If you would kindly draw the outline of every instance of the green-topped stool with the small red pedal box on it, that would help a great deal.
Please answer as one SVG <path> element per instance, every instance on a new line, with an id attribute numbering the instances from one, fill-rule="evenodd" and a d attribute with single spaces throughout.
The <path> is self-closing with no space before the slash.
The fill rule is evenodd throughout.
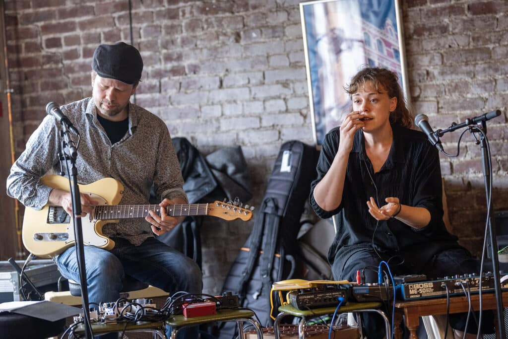
<path id="1" fill-rule="evenodd" d="M 254 326 L 258 333 L 258 338 L 263 338 L 263 331 L 260 324 L 253 320 L 254 312 L 250 310 L 219 309 L 216 314 L 209 316 L 185 318 L 183 315 L 174 316 L 166 321 L 166 324 L 172 327 L 171 339 L 176 338 L 176 333 L 187 326 L 196 326 L 212 321 L 234 320 L 238 324 L 239 338 L 243 338 L 243 322 L 249 322 Z"/>

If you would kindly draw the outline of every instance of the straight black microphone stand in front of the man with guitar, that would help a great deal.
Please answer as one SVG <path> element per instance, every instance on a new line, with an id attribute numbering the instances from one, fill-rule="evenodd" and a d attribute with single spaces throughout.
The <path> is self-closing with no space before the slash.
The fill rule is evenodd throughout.
<path id="1" fill-rule="evenodd" d="M 90 326 L 90 313 L 88 303 L 88 288 L 86 286 L 86 267 L 85 267 L 85 249 L 83 246 L 83 228 L 81 224 L 81 198 L 78 186 L 78 170 L 76 168 L 76 158 L 78 151 L 74 145 L 74 141 L 69 136 L 70 132 L 67 122 L 61 120 L 62 126 L 61 136 L 63 136 L 62 147 L 60 149 L 60 161 L 71 161 L 71 170 L 68 171 L 70 179 L 72 210 L 74 215 L 74 247 L 76 249 L 76 257 L 78 260 L 79 269 L 79 282 L 81 286 L 81 300 L 83 306 L 83 319 L 85 327 L 85 336 L 87 339 L 92 339 L 91 326 Z M 66 153 L 65 150 L 68 152 Z M 62 168 L 60 164 L 60 168 Z M 68 168 L 68 167 L 67 167 Z"/>

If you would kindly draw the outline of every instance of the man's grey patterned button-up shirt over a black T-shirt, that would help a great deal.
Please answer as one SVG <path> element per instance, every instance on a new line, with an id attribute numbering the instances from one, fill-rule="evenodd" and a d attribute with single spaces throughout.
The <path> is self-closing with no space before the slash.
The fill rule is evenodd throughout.
<path id="1" fill-rule="evenodd" d="M 178 158 L 165 123 L 147 110 L 129 104 L 129 129 L 117 143 L 111 144 L 97 119 L 92 98 L 62 106 L 80 133 L 76 167 L 78 181 L 88 184 L 113 177 L 123 184 L 120 204 L 148 204 L 150 189 L 160 200 L 175 197 L 187 201 Z M 51 188 L 40 178 L 59 173 L 58 151 L 61 126 L 46 116 L 30 136 L 26 149 L 11 168 L 7 193 L 25 206 L 41 209 L 47 204 Z M 77 142 L 77 138 L 73 136 Z M 63 166 L 67 172 L 67 168 Z M 106 236 L 128 239 L 135 245 L 153 236 L 144 219 L 122 219 L 103 227 Z"/>

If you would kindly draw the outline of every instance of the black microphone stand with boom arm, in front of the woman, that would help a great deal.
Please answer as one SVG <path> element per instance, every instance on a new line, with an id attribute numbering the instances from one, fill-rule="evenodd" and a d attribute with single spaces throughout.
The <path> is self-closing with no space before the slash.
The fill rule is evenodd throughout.
<path id="1" fill-rule="evenodd" d="M 482 149 L 482 169 L 483 169 L 483 176 L 485 180 L 485 191 L 487 196 L 487 215 L 489 215 L 489 219 L 487 220 L 487 228 L 490 236 L 490 253 L 492 257 L 492 274 L 494 276 L 494 291 L 496 293 L 496 307 L 497 307 L 497 325 L 499 327 L 499 337 L 504 338 L 505 335 L 505 328 L 504 328 L 504 307 L 503 307 L 503 298 L 502 298 L 502 291 L 501 291 L 501 281 L 499 277 L 499 258 L 497 256 L 497 239 L 496 239 L 496 226 L 495 226 L 495 219 L 492 216 L 492 198 L 489 197 L 489 182 L 491 180 L 490 178 L 490 158 L 488 157 L 488 150 L 487 150 L 487 140 L 485 139 L 485 135 L 487 134 L 487 120 L 492 119 L 496 116 L 499 116 L 501 114 L 500 110 L 492 111 L 485 113 L 481 116 L 474 117 L 472 119 L 466 119 L 465 122 L 462 122 L 462 124 L 452 124 L 448 129 L 446 130 L 437 130 L 433 132 L 436 137 L 443 136 L 444 133 L 452 132 L 457 129 L 467 127 L 470 125 L 477 125 L 479 129 L 483 131 L 483 134 L 480 136 L 480 141 L 477 142 L 477 144 L 480 144 L 480 147 Z M 471 133 L 473 133 L 473 129 L 470 128 Z M 480 279 L 482 279 L 483 272 L 480 272 Z"/>

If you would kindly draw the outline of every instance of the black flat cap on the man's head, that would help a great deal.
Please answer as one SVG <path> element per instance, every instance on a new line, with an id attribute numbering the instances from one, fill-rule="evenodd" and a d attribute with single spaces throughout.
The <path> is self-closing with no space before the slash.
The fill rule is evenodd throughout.
<path id="1" fill-rule="evenodd" d="M 93 52 L 92 70 L 103 78 L 132 85 L 141 79 L 143 59 L 136 47 L 124 42 L 99 45 Z"/>

